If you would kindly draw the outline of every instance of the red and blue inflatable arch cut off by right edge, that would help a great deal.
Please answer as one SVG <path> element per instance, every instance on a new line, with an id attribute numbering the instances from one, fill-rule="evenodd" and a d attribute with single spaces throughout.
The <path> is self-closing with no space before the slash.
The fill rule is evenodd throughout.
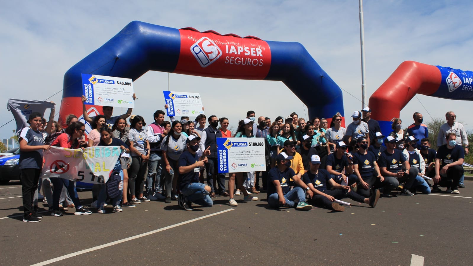
<path id="1" fill-rule="evenodd" d="M 384 135 L 393 131 L 391 121 L 416 94 L 473 100 L 473 72 L 414 61 L 401 63 L 369 98 L 372 118 L 378 120 Z M 445 106 L 445 112 L 447 109 L 452 108 Z"/>

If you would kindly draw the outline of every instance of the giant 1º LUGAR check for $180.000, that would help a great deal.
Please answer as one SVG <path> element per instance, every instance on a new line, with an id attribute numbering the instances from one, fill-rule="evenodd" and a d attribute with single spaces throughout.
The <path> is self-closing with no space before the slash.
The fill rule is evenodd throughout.
<path id="1" fill-rule="evenodd" d="M 217 138 L 219 173 L 266 171 L 264 138 Z"/>

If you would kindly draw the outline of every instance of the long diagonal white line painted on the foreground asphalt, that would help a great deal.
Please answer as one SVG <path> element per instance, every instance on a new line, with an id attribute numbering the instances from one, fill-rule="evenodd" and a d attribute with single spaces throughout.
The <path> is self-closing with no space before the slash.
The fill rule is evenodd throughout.
<path id="1" fill-rule="evenodd" d="M 142 234 L 139 234 L 139 235 L 136 235 L 136 236 L 116 240 L 116 241 L 106 243 L 106 244 L 103 244 L 103 245 L 100 245 L 100 246 L 96 246 L 96 247 L 93 247 L 93 248 L 86 248 L 84 250 L 73 252 L 73 253 L 70 253 L 70 254 L 67 254 L 67 255 L 64 255 L 64 256 L 61 256 L 61 257 L 56 257 L 56 258 L 50 259 L 50 260 L 45 260 L 43 262 L 33 264 L 32 266 L 43 266 L 43 265 L 47 265 L 47 264 L 50 264 L 50 263 L 58 262 L 58 261 L 61 261 L 63 259 L 74 257 L 74 256 L 77 256 L 77 255 L 80 255 L 80 254 L 85 254 L 85 253 L 95 251 L 95 250 L 98 250 L 98 249 L 111 247 L 111 246 L 114 246 L 116 244 L 120 244 L 120 243 L 130 241 L 130 240 L 133 240 L 133 239 L 138 239 L 140 237 L 149 236 L 149 235 L 161 232 L 161 231 L 172 229 L 172 228 L 184 225 L 184 224 L 188 224 L 188 223 L 191 223 L 191 222 L 196 222 L 196 221 L 199 221 L 199 220 L 202 220 L 202 219 L 205 219 L 205 218 L 209 218 L 211 216 L 219 215 L 219 214 L 226 213 L 226 212 L 233 211 L 233 210 L 234 209 L 227 209 L 225 211 L 221 211 L 221 212 L 218 212 L 218 213 L 212 213 L 212 214 L 204 215 L 204 216 L 199 217 L 199 218 L 195 218 L 195 219 L 188 220 L 188 221 L 185 221 L 185 222 L 179 222 L 179 223 L 176 223 L 176 224 L 173 224 L 173 225 L 169 225 L 169 226 L 166 226 L 166 227 L 163 227 L 163 228 L 160 228 L 160 229 L 156 229 L 156 230 L 153 230 L 153 231 L 142 233 Z"/>

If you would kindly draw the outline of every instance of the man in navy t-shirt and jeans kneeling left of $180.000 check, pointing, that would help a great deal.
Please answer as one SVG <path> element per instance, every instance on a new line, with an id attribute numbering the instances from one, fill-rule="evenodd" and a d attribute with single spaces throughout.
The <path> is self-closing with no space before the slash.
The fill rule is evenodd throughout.
<path id="1" fill-rule="evenodd" d="M 212 120 L 212 116 L 209 117 Z M 211 155 L 210 147 L 203 151 L 202 155 L 198 155 L 199 142 L 201 138 L 190 135 L 186 142 L 186 150 L 179 156 L 177 162 L 179 169 L 179 189 L 181 193 L 178 195 L 179 207 L 186 211 L 192 211 L 192 203 L 211 207 L 213 205 L 209 194 L 210 186 L 199 182 L 200 169 L 207 163 L 208 156 Z"/>

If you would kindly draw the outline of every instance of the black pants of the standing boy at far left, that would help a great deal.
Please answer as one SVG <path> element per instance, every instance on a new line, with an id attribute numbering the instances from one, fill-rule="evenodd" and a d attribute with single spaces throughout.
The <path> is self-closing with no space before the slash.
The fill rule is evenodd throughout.
<path id="1" fill-rule="evenodd" d="M 41 169 L 20 169 L 21 192 L 23 195 L 23 212 L 25 213 L 25 215 L 33 213 L 33 198 L 35 197 L 35 191 L 38 188 L 40 174 Z"/>

